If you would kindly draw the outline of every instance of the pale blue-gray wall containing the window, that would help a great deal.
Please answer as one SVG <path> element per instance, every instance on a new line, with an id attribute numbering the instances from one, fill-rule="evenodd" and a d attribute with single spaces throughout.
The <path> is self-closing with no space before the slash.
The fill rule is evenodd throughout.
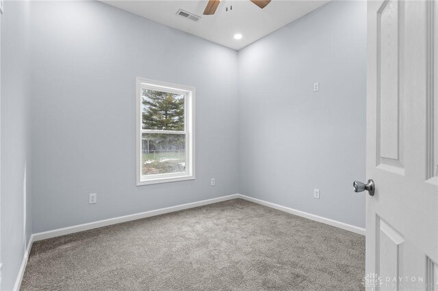
<path id="1" fill-rule="evenodd" d="M 238 192 L 236 51 L 96 1 L 31 11 L 34 232 Z M 196 180 L 136 186 L 136 77 L 196 87 Z"/>

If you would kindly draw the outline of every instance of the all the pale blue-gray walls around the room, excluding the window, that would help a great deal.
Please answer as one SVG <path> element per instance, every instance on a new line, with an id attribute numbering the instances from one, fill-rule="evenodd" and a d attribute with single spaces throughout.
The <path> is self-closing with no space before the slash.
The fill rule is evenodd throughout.
<path id="1" fill-rule="evenodd" d="M 6 1 L 3 290 L 31 232 L 227 194 L 363 227 L 365 12 L 334 1 L 237 54 L 96 1 Z M 196 180 L 136 186 L 136 77 L 196 87 Z"/>

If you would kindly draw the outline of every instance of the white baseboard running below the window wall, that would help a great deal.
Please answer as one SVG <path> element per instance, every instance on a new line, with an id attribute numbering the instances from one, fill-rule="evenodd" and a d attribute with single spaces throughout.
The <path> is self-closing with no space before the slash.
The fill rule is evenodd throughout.
<path id="1" fill-rule="evenodd" d="M 160 208 L 157 210 L 150 210 L 150 211 L 140 212 L 140 213 L 136 213 L 136 214 L 129 214 L 129 215 L 125 215 L 123 217 L 115 217 L 112 219 L 104 219 L 101 221 L 94 221 L 94 222 L 90 222 L 90 223 L 73 225 L 73 226 L 69 226 L 69 227 L 60 228 L 57 230 L 49 230 L 48 232 L 38 232 L 37 234 L 33 234 L 34 241 L 45 240 L 47 238 L 54 238 L 56 236 L 64 236 L 65 234 L 73 234 L 75 232 L 83 232 L 84 230 L 92 230 L 93 228 L 97 228 L 97 227 L 103 227 L 103 226 L 112 225 L 112 224 L 116 224 L 116 223 L 123 223 L 126 221 L 143 219 L 146 217 L 153 217 L 153 216 L 159 215 L 159 214 L 166 214 L 166 213 L 184 210 L 184 209 L 188 209 L 188 208 L 204 206 L 207 204 L 214 204 L 217 202 L 235 199 L 237 197 L 239 197 L 238 194 L 232 194 L 232 195 L 227 195 L 227 196 L 222 196 L 222 197 L 217 197 L 217 198 L 212 198 L 212 199 L 207 199 L 207 200 L 201 200 L 198 202 L 192 202 L 192 203 L 181 204 L 181 205 L 177 205 L 177 206 Z"/>

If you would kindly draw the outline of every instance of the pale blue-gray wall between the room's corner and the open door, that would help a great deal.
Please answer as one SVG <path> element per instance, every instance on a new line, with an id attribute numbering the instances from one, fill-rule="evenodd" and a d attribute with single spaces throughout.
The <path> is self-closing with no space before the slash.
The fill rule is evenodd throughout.
<path id="1" fill-rule="evenodd" d="M 332 1 L 239 51 L 240 193 L 365 227 L 352 193 L 365 180 L 365 53 L 365 1 Z"/>

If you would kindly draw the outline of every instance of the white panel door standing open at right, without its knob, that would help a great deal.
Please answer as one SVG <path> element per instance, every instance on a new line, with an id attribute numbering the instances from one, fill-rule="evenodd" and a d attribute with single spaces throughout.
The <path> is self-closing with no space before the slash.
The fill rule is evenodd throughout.
<path id="1" fill-rule="evenodd" d="M 438 290 L 436 1 L 368 1 L 368 290 Z"/>

